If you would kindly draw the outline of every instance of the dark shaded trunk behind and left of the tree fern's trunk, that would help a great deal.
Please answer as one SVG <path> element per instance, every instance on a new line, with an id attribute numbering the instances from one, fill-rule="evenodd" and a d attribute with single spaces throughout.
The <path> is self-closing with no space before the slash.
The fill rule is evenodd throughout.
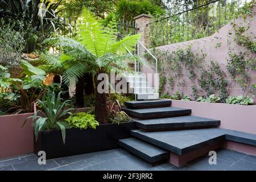
<path id="1" fill-rule="evenodd" d="M 84 107 L 84 77 L 80 77 L 76 83 L 76 106 Z"/>

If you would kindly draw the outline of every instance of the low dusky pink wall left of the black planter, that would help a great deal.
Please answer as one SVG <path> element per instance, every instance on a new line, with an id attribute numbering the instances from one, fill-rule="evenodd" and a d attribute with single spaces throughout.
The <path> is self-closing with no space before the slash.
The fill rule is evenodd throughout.
<path id="1" fill-rule="evenodd" d="M 34 151 L 34 130 L 31 121 L 21 128 L 32 113 L 0 116 L 0 159 Z"/>

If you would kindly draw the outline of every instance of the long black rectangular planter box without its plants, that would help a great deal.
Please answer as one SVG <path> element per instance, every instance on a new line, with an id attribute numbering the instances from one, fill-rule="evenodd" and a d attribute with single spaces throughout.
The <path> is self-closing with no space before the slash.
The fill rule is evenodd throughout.
<path id="1" fill-rule="evenodd" d="M 135 129 L 135 122 L 106 124 L 94 129 L 66 129 L 65 144 L 60 130 L 40 132 L 34 139 L 34 152 L 45 151 L 46 158 L 85 154 L 118 148 L 118 140 L 129 138 L 130 130 Z"/>

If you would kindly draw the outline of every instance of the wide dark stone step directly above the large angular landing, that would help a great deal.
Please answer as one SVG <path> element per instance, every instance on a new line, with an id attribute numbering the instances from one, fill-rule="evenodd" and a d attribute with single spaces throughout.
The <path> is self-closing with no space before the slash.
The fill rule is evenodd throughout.
<path id="1" fill-rule="evenodd" d="M 202 127 L 214 127 L 220 125 L 219 120 L 184 115 L 180 117 L 156 118 L 156 119 L 135 119 L 136 126 L 146 131 L 156 130 L 180 130 Z"/>

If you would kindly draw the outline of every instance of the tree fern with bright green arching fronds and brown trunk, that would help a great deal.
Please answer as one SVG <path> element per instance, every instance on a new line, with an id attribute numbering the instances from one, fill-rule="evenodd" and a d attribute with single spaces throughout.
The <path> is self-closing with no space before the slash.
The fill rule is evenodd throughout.
<path id="1" fill-rule="evenodd" d="M 58 48 L 60 55 L 43 55 L 45 64 L 62 67 L 63 81 L 70 84 L 71 80 L 92 73 L 96 78 L 96 88 L 100 81 L 97 81 L 99 73 L 110 71 L 122 73 L 129 69 L 125 60 L 136 59 L 142 61 L 138 56 L 127 54 L 127 50 L 133 51 L 140 35 L 126 36 L 122 40 L 117 39 L 116 24 L 110 23 L 103 27 L 96 18 L 84 10 L 83 22 L 79 27 L 79 34 L 75 39 L 49 38 L 46 43 Z M 108 123 L 107 94 L 96 92 L 96 119 L 100 123 Z"/>

